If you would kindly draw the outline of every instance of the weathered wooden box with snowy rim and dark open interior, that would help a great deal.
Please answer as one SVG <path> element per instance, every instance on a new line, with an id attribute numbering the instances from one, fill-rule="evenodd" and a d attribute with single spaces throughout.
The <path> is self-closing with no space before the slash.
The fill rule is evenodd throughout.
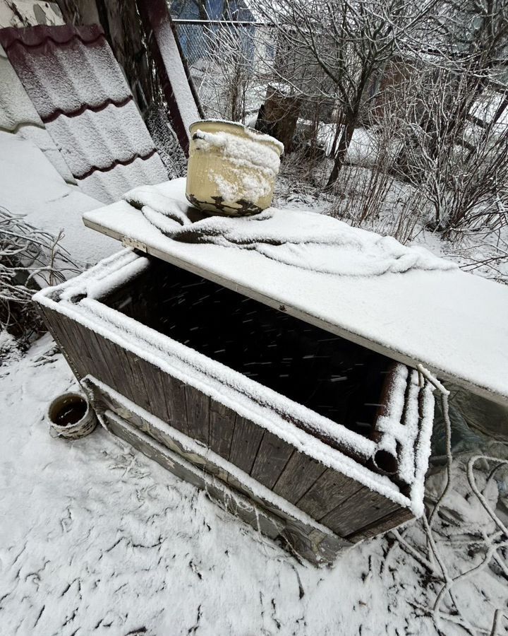
<path id="1" fill-rule="evenodd" d="M 35 300 L 107 429 L 297 557 L 423 512 L 415 370 L 131 249 Z"/>

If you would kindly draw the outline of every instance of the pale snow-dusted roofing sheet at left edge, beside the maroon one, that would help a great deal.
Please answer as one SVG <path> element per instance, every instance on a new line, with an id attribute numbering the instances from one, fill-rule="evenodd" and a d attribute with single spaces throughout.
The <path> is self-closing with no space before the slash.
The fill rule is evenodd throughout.
<path id="1" fill-rule="evenodd" d="M 39 114 L 16 75 L 6 52 L 0 47 L 0 131 L 30 139 L 42 150 L 68 183 L 75 183 L 71 171 L 49 136 Z"/>

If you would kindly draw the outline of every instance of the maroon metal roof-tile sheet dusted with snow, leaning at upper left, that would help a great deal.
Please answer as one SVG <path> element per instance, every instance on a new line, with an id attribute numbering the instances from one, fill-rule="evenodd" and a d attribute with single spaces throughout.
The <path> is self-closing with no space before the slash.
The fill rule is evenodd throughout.
<path id="1" fill-rule="evenodd" d="M 6 28 L 0 43 L 84 192 L 114 201 L 138 184 L 167 179 L 98 25 Z M 147 160 L 143 170 L 125 170 L 138 160 Z M 102 177 L 90 179 L 97 172 Z"/>

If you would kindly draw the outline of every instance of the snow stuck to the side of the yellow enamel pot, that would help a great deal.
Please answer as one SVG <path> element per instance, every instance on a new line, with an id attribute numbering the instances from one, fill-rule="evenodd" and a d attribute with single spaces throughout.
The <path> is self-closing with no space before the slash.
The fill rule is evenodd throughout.
<path id="1" fill-rule="evenodd" d="M 258 140 L 255 134 L 250 134 L 246 139 L 225 131 L 212 133 L 198 129 L 193 139 L 197 151 L 216 151 L 227 162 L 228 170 L 222 173 L 209 170 L 226 203 L 241 200 L 257 203 L 272 192 L 279 173 L 281 149 L 270 138 L 270 141 Z"/>

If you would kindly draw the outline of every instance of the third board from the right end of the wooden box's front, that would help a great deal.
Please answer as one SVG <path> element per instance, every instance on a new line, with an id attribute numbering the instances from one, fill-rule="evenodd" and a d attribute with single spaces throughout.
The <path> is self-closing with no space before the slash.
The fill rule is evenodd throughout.
<path id="1" fill-rule="evenodd" d="M 353 479 L 332 469 L 326 469 L 296 505 L 313 519 L 319 520 L 360 488 L 361 485 Z"/>

